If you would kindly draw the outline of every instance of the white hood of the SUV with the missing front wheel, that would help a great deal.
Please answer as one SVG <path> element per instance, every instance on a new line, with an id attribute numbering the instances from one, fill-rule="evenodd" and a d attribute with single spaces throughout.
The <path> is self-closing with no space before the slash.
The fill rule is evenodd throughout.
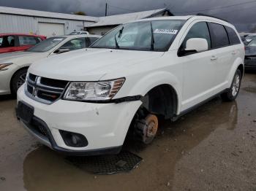
<path id="1" fill-rule="evenodd" d="M 163 52 L 83 49 L 55 55 L 33 63 L 29 72 L 41 77 L 64 79 L 68 81 L 95 81 L 104 74 L 127 67 L 142 61 L 159 58 Z"/>

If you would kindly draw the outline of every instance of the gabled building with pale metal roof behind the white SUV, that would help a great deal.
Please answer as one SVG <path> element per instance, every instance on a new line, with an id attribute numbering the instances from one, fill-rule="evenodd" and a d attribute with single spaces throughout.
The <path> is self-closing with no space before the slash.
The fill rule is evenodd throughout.
<path id="1" fill-rule="evenodd" d="M 148 17 L 164 17 L 164 16 L 173 16 L 173 14 L 168 9 L 155 9 L 143 12 L 132 12 L 121 15 L 111 15 L 107 17 L 99 17 L 97 23 L 93 23 L 90 26 L 86 27 L 86 30 L 90 34 L 104 35 L 112 28 L 116 26 L 127 23 L 132 20 L 139 20 Z"/>

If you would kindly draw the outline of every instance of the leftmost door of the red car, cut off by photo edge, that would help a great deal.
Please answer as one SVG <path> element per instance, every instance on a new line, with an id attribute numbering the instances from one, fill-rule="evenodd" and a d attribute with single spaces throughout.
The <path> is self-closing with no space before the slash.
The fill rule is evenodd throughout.
<path id="1" fill-rule="evenodd" d="M 17 51 L 17 40 L 13 35 L 0 36 L 0 53 Z"/>

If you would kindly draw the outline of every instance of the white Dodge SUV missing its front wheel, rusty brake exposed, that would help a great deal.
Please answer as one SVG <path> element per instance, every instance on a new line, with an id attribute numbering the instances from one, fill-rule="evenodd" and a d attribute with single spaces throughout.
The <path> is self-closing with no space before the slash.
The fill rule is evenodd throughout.
<path id="1" fill-rule="evenodd" d="M 230 23 L 149 18 L 114 28 L 86 50 L 32 64 L 16 112 L 58 152 L 118 153 L 127 135 L 151 143 L 159 116 L 176 120 L 219 94 L 235 100 L 243 75 L 244 44 Z"/>

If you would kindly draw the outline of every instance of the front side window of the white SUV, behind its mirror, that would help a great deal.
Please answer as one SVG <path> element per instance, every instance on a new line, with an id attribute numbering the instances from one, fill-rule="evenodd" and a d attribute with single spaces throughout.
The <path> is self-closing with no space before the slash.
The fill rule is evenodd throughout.
<path id="1" fill-rule="evenodd" d="M 192 38 L 206 39 L 208 42 L 208 50 L 211 49 L 211 37 L 206 22 L 195 23 L 195 25 L 189 29 L 184 42 L 181 44 L 183 49 L 186 48 L 187 40 Z"/>

